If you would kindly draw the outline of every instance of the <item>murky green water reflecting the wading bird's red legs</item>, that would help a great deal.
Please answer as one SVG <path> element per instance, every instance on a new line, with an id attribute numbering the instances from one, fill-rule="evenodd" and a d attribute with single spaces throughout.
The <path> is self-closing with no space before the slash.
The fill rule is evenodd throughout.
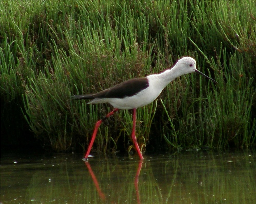
<path id="1" fill-rule="evenodd" d="M 256 203 L 255 152 L 1 155 L 1 203 Z"/>

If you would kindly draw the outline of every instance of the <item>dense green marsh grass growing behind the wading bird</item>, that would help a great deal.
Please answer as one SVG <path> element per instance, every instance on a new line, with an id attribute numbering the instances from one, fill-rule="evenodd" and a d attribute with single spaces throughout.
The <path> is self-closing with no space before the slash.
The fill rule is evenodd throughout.
<path id="1" fill-rule="evenodd" d="M 71 95 L 191 56 L 218 84 L 182 76 L 139 108 L 142 151 L 255 146 L 255 19 L 255 1 L 2 1 L 1 129 L 12 126 L 2 121 L 15 104 L 16 121 L 42 144 L 84 151 L 112 107 Z M 131 111 L 120 110 L 101 125 L 94 150 L 131 151 L 131 127 Z"/>

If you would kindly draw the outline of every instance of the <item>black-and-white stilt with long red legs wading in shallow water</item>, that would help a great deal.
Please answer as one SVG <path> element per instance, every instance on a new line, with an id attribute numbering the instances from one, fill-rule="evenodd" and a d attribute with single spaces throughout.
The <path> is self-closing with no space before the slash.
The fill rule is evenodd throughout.
<path id="1" fill-rule="evenodd" d="M 166 87 L 166 85 L 175 78 L 183 74 L 188 74 L 192 72 L 197 72 L 202 76 L 217 83 L 217 81 L 211 79 L 210 77 L 206 76 L 204 73 L 196 69 L 195 59 L 191 57 L 183 57 L 177 61 L 172 69 L 167 69 L 162 73 L 151 74 L 143 78 L 130 79 L 98 93 L 72 96 L 72 99 L 74 100 L 92 99 L 87 104 L 110 103 L 115 108 L 108 115 L 106 115 L 106 117 L 99 120 L 95 124 L 92 139 L 88 147 L 87 153 L 85 154 L 85 159 L 87 159 L 90 154 L 92 144 L 102 121 L 113 115 L 114 112 L 118 111 L 118 109 L 133 109 L 132 139 L 138 155 L 142 160 L 143 156 L 141 154 L 140 147 L 137 143 L 137 139 L 135 136 L 136 108 L 153 102 Z"/>

